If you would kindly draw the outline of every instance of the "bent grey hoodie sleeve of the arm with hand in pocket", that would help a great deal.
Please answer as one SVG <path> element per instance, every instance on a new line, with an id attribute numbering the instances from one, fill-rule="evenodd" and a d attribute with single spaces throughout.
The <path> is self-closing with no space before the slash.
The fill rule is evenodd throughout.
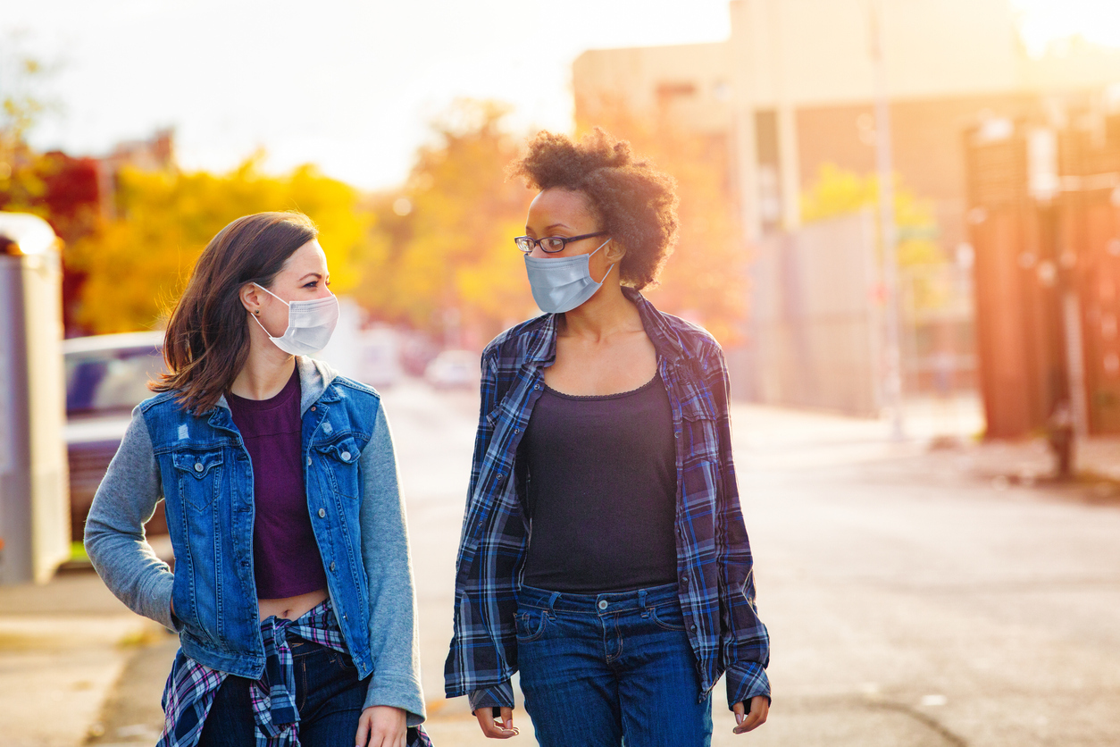
<path id="1" fill-rule="evenodd" d="M 151 437 L 137 408 L 90 506 L 85 551 L 105 586 L 129 609 L 177 631 L 171 619 L 175 575 L 156 557 L 143 532 L 161 497 Z"/>

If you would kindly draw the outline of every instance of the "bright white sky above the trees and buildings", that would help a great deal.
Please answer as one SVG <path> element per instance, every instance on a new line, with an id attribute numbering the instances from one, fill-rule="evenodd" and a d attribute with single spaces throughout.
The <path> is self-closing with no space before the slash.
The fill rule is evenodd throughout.
<path id="1" fill-rule="evenodd" d="M 824 1 L 824 0 L 822 0 Z M 1028 47 L 1120 44 L 1117 0 L 1014 0 Z M 6 0 L 0 44 L 54 68 L 41 149 L 103 155 L 174 127 L 179 164 L 315 162 L 366 189 L 403 181 L 457 97 L 514 106 L 515 131 L 571 127 L 584 50 L 719 41 L 727 0 Z M 0 49 L 0 53 L 4 50 Z M 0 86 L 4 85 L 0 80 Z"/>

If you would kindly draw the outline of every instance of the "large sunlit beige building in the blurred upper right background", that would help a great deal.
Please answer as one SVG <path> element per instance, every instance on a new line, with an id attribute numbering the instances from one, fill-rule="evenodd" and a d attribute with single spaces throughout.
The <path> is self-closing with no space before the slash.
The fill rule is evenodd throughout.
<path id="1" fill-rule="evenodd" d="M 879 7 L 876 20 L 874 6 Z M 1007 0 L 731 0 L 727 41 L 597 49 L 572 67 L 577 116 L 620 101 L 727 138 L 748 237 L 796 227 L 820 167 L 875 169 L 876 22 L 885 40 L 895 169 L 963 240 L 963 132 L 1040 119 L 1055 97 L 1120 83 L 1120 52 L 1027 56 Z"/>

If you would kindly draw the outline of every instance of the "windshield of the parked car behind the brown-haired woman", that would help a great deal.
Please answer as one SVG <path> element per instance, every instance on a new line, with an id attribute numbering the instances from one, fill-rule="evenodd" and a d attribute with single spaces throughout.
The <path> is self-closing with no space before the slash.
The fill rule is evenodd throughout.
<path id="1" fill-rule="evenodd" d="M 164 371 L 156 347 L 68 353 L 66 414 L 127 413 L 151 396 L 148 382 Z"/>

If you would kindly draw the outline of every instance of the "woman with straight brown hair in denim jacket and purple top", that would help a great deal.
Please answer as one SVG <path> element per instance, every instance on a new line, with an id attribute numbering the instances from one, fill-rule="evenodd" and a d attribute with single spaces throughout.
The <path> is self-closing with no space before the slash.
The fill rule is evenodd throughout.
<path id="1" fill-rule="evenodd" d="M 179 634 L 160 747 L 430 744 L 384 409 L 307 357 L 338 318 L 317 235 L 260 213 L 209 242 L 90 510 L 101 578 Z"/>

